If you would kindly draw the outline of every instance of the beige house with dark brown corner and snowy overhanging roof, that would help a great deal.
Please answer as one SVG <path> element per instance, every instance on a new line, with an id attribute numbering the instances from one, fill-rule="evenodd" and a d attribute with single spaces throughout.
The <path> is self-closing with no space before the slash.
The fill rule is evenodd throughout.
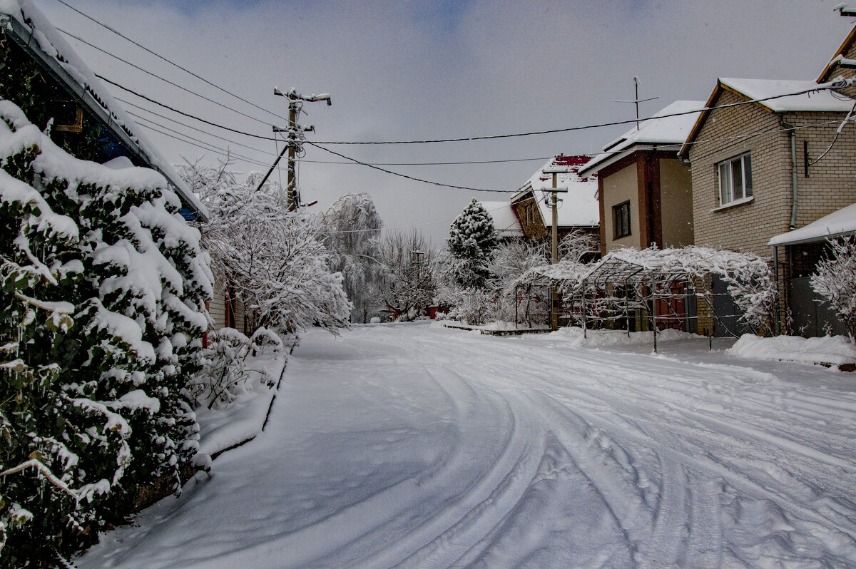
<path id="1" fill-rule="evenodd" d="M 608 145 L 579 170 L 597 175 L 600 249 L 693 245 L 693 188 L 678 151 L 701 101 L 675 101 Z M 675 115 L 675 116 L 672 116 Z"/>

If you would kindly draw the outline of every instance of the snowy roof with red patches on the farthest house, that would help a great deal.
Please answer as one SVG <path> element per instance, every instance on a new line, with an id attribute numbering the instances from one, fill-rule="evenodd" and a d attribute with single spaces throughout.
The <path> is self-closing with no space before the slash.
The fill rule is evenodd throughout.
<path id="1" fill-rule="evenodd" d="M 594 227 L 600 224 L 600 206 L 597 203 L 597 175 L 589 175 L 588 179 L 580 176 L 580 168 L 588 162 L 586 156 L 563 156 L 550 158 L 544 166 L 523 185 L 523 190 L 512 197 L 519 199 L 522 194 L 534 191 L 538 199 L 538 208 L 544 217 L 544 225 L 553 227 L 552 208 L 547 200 L 542 199 L 542 190 L 553 187 L 553 175 L 544 174 L 545 169 L 565 168 L 568 172 L 556 175 L 556 187 L 568 189 L 568 193 L 559 193 L 558 226 L 562 227 Z"/>

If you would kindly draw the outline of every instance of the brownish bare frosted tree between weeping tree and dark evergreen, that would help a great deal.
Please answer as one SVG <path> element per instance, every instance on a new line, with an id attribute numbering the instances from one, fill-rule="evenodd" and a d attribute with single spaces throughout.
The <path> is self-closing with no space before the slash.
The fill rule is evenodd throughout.
<path id="1" fill-rule="evenodd" d="M 398 314 L 400 320 L 422 316 L 432 304 L 436 285 L 431 264 L 435 252 L 425 236 L 415 229 L 393 231 L 381 240 L 381 269 L 378 294 L 384 305 Z"/>

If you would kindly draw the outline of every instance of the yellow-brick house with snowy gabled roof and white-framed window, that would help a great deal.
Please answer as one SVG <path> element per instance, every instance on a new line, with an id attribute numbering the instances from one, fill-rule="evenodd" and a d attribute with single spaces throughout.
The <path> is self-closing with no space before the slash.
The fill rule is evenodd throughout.
<path id="1" fill-rule="evenodd" d="M 823 76 L 835 69 L 828 66 Z M 770 257 L 774 236 L 856 201 L 856 127 L 847 124 L 836 138 L 854 101 L 829 90 L 806 92 L 815 87 L 812 80 L 716 81 L 706 107 L 737 106 L 704 111 L 680 151 L 692 164 L 696 245 Z M 783 96 L 797 92 L 805 93 Z M 764 100 L 751 102 L 757 99 Z M 805 256 L 793 247 L 776 250 L 782 327 L 787 308 L 800 316 L 800 306 L 813 302 L 794 297 L 809 294 L 805 286 L 791 286 L 813 268 Z M 817 334 L 817 326 L 804 331 Z"/>

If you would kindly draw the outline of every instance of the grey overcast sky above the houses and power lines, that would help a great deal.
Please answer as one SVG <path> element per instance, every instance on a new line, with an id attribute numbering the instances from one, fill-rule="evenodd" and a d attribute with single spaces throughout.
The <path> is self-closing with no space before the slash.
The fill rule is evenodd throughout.
<path id="1" fill-rule="evenodd" d="M 57 0 L 33 0 L 56 27 L 115 56 L 253 118 L 194 97 L 68 38 L 90 67 L 178 110 L 270 137 L 285 126 L 288 104 L 273 95 L 296 88 L 327 92 L 333 105 L 308 103 L 304 124 L 316 141 L 459 138 L 524 133 L 633 118 L 633 76 L 651 115 L 676 99 L 706 100 L 716 77 L 814 80 L 853 27 L 833 10 L 839 0 L 609 0 L 539 2 L 287 2 L 285 0 L 66 0 L 241 102 L 170 66 L 74 13 Z M 125 105 L 205 145 L 229 147 L 241 172 L 266 170 L 271 140 L 230 133 L 176 115 L 110 86 L 153 110 Z M 175 121 L 216 133 L 205 133 Z M 388 165 L 446 184 L 515 190 L 547 157 L 600 150 L 627 130 L 604 127 L 525 138 L 431 145 L 330 145 L 368 163 L 532 161 L 463 165 Z M 187 141 L 145 130 L 173 163 L 205 156 Z M 173 134 L 173 133 L 170 133 Z M 174 134 L 173 134 L 174 135 Z M 199 143 L 194 143 L 199 144 Z M 252 148 L 247 148 L 247 145 Z M 345 193 L 367 192 L 389 228 L 417 226 L 441 245 L 473 193 L 409 181 L 306 147 L 300 191 L 325 209 Z M 282 181 L 285 181 L 285 163 Z M 276 174 L 275 174 L 276 175 Z"/>

